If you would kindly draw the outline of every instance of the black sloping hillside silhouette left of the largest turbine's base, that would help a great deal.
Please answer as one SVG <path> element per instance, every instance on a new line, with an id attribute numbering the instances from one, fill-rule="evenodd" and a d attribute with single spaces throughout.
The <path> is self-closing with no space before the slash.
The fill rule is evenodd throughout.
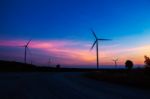
<path id="1" fill-rule="evenodd" d="M 56 67 L 36 66 L 27 63 L 20 63 L 15 61 L 0 60 L 0 72 L 89 72 L 96 71 L 96 69 L 84 68 L 62 68 L 60 64 Z"/>

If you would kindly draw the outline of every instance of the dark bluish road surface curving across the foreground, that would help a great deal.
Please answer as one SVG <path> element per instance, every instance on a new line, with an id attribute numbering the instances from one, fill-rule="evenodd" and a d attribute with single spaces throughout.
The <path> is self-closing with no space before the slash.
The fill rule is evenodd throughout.
<path id="1" fill-rule="evenodd" d="M 0 73 L 0 99 L 150 99 L 150 91 L 97 82 L 83 72 Z"/>

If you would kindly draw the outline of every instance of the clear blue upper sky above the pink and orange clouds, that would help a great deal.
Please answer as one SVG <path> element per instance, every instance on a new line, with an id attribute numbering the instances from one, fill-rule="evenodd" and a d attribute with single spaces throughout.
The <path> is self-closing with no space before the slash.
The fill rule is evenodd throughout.
<path id="1" fill-rule="evenodd" d="M 0 39 L 92 44 L 93 28 L 99 37 L 114 40 L 104 45 L 119 44 L 118 49 L 146 46 L 149 5 L 149 0 L 1 0 Z"/>

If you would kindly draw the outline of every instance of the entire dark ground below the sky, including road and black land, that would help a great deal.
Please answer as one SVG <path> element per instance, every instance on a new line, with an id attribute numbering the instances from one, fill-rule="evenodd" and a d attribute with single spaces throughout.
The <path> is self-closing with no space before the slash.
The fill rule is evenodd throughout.
<path id="1" fill-rule="evenodd" d="M 150 72 L 145 69 L 96 70 L 0 63 L 0 99 L 150 99 Z"/>

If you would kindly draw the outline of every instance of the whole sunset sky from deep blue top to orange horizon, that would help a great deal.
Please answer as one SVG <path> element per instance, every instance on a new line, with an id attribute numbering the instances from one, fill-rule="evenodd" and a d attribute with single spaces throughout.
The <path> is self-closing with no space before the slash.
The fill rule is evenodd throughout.
<path id="1" fill-rule="evenodd" d="M 0 60 L 23 62 L 28 40 L 28 63 L 95 66 L 99 38 L 100 65 L 119 58 L 144 64 L 150 56 L 149 0 L 1 0 Z"/>

